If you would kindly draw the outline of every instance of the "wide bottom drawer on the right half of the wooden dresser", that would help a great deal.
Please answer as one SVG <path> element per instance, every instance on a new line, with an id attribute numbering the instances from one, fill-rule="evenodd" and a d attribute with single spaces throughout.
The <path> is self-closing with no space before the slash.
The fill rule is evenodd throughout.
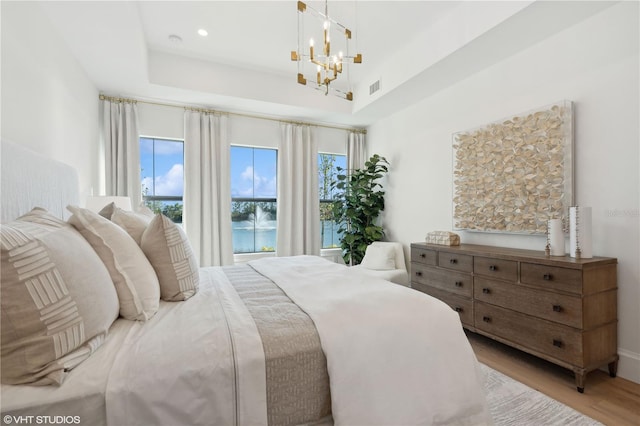
<path id="1" fill-rule="evenodd" d="M 570 327 L 476 302 L 477 329 L 572 365 L 582 365 L 582 333 Z"/>

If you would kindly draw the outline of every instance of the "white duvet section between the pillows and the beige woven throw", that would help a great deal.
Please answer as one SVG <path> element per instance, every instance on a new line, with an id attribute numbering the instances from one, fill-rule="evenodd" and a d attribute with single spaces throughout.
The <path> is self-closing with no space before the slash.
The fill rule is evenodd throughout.
<path id="1" fill-rule="evenodd" d="M 266 425 L 264 352 L 220 268 L 198 293 L 136 322 L 107 386 L 109 425 Z"/>

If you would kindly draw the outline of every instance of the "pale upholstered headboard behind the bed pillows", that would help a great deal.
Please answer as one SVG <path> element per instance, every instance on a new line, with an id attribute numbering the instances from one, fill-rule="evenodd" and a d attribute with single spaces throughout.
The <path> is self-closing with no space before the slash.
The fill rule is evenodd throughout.
<path id="1" fill-rule="evenodd" d="M 66 219 L 70 215 L 67 205 L 78 204 L 78 174 L 73 167 L 5 140 L 0 157 L 2 223 L 33 207 Z"/>

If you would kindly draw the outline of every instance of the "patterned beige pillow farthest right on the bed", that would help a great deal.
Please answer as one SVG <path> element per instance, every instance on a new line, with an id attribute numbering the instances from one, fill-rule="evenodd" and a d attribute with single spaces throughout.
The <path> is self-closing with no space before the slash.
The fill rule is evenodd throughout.
<path id="1" fill-rule="evenodd" d="M 187 300 L 198 291 L 198 261 L 182 227 L 157 214 L 142 234 L 142 251 L 160 281 L 163 300 Z"/>

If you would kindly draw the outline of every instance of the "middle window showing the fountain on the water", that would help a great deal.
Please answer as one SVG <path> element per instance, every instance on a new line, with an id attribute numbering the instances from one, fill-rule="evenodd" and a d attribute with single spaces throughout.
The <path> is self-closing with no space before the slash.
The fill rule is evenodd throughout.
<path id="1" fill-rule="evenodd" d="M 231 147 L 231 221 L 234 253 L 276 249 L 275 149 Z"/>

